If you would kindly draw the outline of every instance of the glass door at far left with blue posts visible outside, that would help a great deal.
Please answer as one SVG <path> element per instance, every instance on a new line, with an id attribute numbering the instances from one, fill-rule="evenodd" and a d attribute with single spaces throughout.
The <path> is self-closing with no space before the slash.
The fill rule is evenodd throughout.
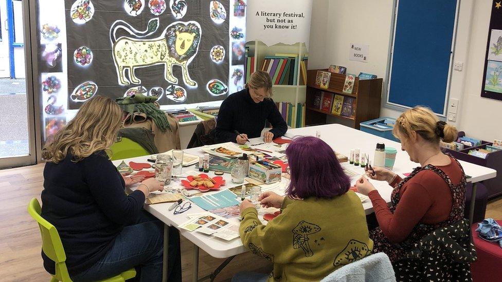
<path id="1" fill-rule="evenodd" d="M 37 160 L 27 8 L 26 1 L 0 0 L 0 168 Z"/>

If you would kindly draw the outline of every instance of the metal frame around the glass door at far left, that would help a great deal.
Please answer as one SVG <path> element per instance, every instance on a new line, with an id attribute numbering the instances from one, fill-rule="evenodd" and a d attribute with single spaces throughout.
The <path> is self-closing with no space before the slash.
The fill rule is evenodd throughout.
<path id="1" fill-rule="evenodd" d="M 8 2 L 8 1 L 7 1 Z M 28 112 L 28 155 L 1 158 L 0 168 L 31 165 L 41 160 L 41 127 L 40 127 L 40 95 L 33 89 L 33 73 L 37 73 L 37 23 L 35 22 L 34 0 L 22 1 L 23 5 L 23 29 L 24 29 L 24 53 L 26 67 L 26 105 Z M 31 9 L 32 8 L 32 9 Z M 33 48 L 34 46 L 34 48 Z M 35 58 L 35 60 L 33 60 Z M 37 115 L 38 112 L 38 115 Z M 40 156 L 40 158 L 38 158 Z"/>

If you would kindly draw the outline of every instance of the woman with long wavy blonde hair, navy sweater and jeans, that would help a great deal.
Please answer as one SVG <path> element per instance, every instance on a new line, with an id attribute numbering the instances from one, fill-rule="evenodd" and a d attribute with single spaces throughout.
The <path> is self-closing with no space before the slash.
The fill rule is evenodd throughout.
<path id="1" fill-rule="evenodd" d="M 47 161 L 42 217 L 58 230 L 74 281 L 101 280 L 135 266 L 140 266 L 142 281 L 162 280 L 164 224 L 142 206 L 146 196 L 164 187 L 154 178 L 121 176 L 110 161 L 106 151 L 121 119 L 122 110 L 113 100 L 96 96 L 42 152 Z M 129 196 L 124 193 L 126 186 L 139 182 Z M 173 276 L 181 280 L 179 235 L 172 234 L 169 262 L 170 267 L 178 265 Z M 43 252 L 42 258 L 54 274 L 55 262 Z"/>

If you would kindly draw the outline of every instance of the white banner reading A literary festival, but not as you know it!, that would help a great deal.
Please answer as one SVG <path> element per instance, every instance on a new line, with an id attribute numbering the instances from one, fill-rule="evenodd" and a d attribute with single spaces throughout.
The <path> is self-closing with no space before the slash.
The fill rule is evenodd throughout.
<path id="1" fill-rule="evenodd" d="M 247 2 L 247 41 L 305 43 L 309 49 L 312 0 L 252 0 Z"/>

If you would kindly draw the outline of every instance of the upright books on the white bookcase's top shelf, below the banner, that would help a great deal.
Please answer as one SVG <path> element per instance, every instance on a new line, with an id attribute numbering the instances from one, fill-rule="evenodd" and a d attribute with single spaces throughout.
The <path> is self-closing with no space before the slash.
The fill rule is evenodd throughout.
<path id="1" fill-rule="evenodd" d="M 297 85 L 298 65 L 300 65 L 300 79 L 303 85 L 307 83 L 307 63 L 309 57 L 299 60 L 298 54 L 281 54 L 265 56 L 261 70 L 268 72 L 274 85 Z M 253 72 L 251 72 L 253 73 Z"/>

